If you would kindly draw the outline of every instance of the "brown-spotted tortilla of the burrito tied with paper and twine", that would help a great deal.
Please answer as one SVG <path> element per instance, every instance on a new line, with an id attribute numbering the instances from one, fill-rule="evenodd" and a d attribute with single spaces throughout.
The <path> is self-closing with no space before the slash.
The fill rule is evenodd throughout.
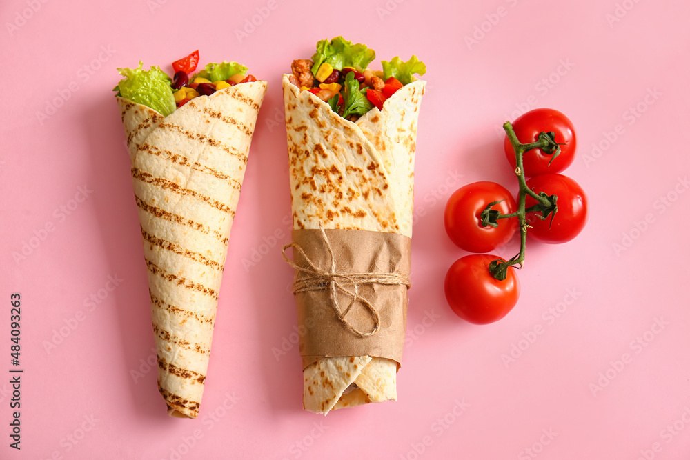
<path id="1" fill-rule="evenodd" d="M 353 229 L 412 237 L 417 117 L 413 81 L 354 123 L 283 76 L 293 228 Z M 326 308 L 324 306 L 324 308 Z M 392 359 L 324 357 L 304 369 L 306 410 L 397 399 Z"/>

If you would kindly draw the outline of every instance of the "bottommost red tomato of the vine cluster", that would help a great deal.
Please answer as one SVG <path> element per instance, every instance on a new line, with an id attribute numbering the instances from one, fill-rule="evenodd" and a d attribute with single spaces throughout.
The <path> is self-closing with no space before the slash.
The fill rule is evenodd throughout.
<path id="1" fill-rule="evenodd" d="M 446 274 L 446 300 L 453 312 L 473 324 L 498 321 L 513 310 L 520 297 L 520 281 L 515 268 L 508 268 L 506 279 L 498 281 L 489 272 L 490 254 L 471 254 L 457 259 Z"/>

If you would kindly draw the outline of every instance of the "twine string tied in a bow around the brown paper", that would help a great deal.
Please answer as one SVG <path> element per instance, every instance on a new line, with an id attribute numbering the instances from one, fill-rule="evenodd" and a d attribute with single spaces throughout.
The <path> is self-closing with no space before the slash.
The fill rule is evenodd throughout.
<path id="1" fill-rule="evenodd" d="M 290 243 L 283 247 L 283 259 L 285 259 L 285 261 L 292 268 L 297 270 L 297 278 L 293 284 L 293 294 L 297 294 L 298 292 L 328 289 L 328 295 L 331 298 L 331 306 L 333 306 L 335 314 L 337 314 L 338 319 L 343 323 L 343 325 L 348 328 L 350 332 L 359 337 L 371 337 L 379 330 L 379 326 L 381 325 L 381 317 L 371 302 L 359 294 L 359 287 L 363 284 L 402 284 L 407 288 L 410 288 L 410 279 L 409 277 L 399 274 L 385 272 L 337 272 L 335 266 L 335 254 L 333 254 L 331 242 L 328 241 L 324 228 L 322 227 L 320 230 L 322 237 L 324 238 L 326 249 L 328 250 L 328 255 L 331 257 L 331 266 L 328 268 L 328 270 L 317 267 L 315 263 L 313 263 L 313 261 L 307 257 L 302 247 L 297 243 Z M 285 254 L 285 251 L 288 248 L 293 248 L 293 251 L 299 252 L 299 254 L 304 258 L 306 266 L 299 266 L 297 263 L 288 259 Z M 340 306 L 340 302 L 338 301 L 338 291 L 344 292 L 344 294 L 350 298 L 350 302 L 346 308 L 342 308 Z M 371 316 L 374 320 L 374 326 L 371 330 L 359 330 L 346 318 L 348 312 L 350 312 L 357 301 L 361 302 L 369 310 L 369 312 L 371 312 Z"/>

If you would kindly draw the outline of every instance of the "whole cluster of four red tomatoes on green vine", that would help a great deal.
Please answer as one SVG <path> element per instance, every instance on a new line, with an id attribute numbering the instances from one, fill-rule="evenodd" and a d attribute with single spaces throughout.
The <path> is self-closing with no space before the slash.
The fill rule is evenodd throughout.
<path id="1" fill-rule="evenodd" d="M 520 229 L 520 252 L 510 259 L 473 254 L 455 261 L 446 274 L 446 300 L 458 317 L 475 324 L 498 321 L 517 303 L 515 270 L 524 263 L 528 229 L 537 239 L 562 243 L 577 236 L 587 219 L 584 191 L 558 174 L 573 161 L 573 123 L 557 110 L 536 109 L 514 124 L 506 121 L 503 129 L 517 200 L 496 183 L 471 183 L 453 193 L 444 213 L 451 240 L 471 252 L 492 250 Z"/>

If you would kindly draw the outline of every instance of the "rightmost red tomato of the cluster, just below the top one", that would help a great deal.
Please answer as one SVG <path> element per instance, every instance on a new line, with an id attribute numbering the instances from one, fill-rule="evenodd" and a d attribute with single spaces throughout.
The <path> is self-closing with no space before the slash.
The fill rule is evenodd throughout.
<path id="1" fill-rule="evenodd" d="M 577 237 L 587 221 L 587 197 L 582 187 L 563 174 L 541 174 L 529 179 L 527 186 L 537 193 L 558 195 L 558 211 L 553 216 L 553 222 L 551 216 L 542 221 L 540 213 L 528 212 L 527 223 L 532 228 L 527 233 L 547 243 L 565 243 Z M 527 195 L 526 208 L 536 203 Z"/>

